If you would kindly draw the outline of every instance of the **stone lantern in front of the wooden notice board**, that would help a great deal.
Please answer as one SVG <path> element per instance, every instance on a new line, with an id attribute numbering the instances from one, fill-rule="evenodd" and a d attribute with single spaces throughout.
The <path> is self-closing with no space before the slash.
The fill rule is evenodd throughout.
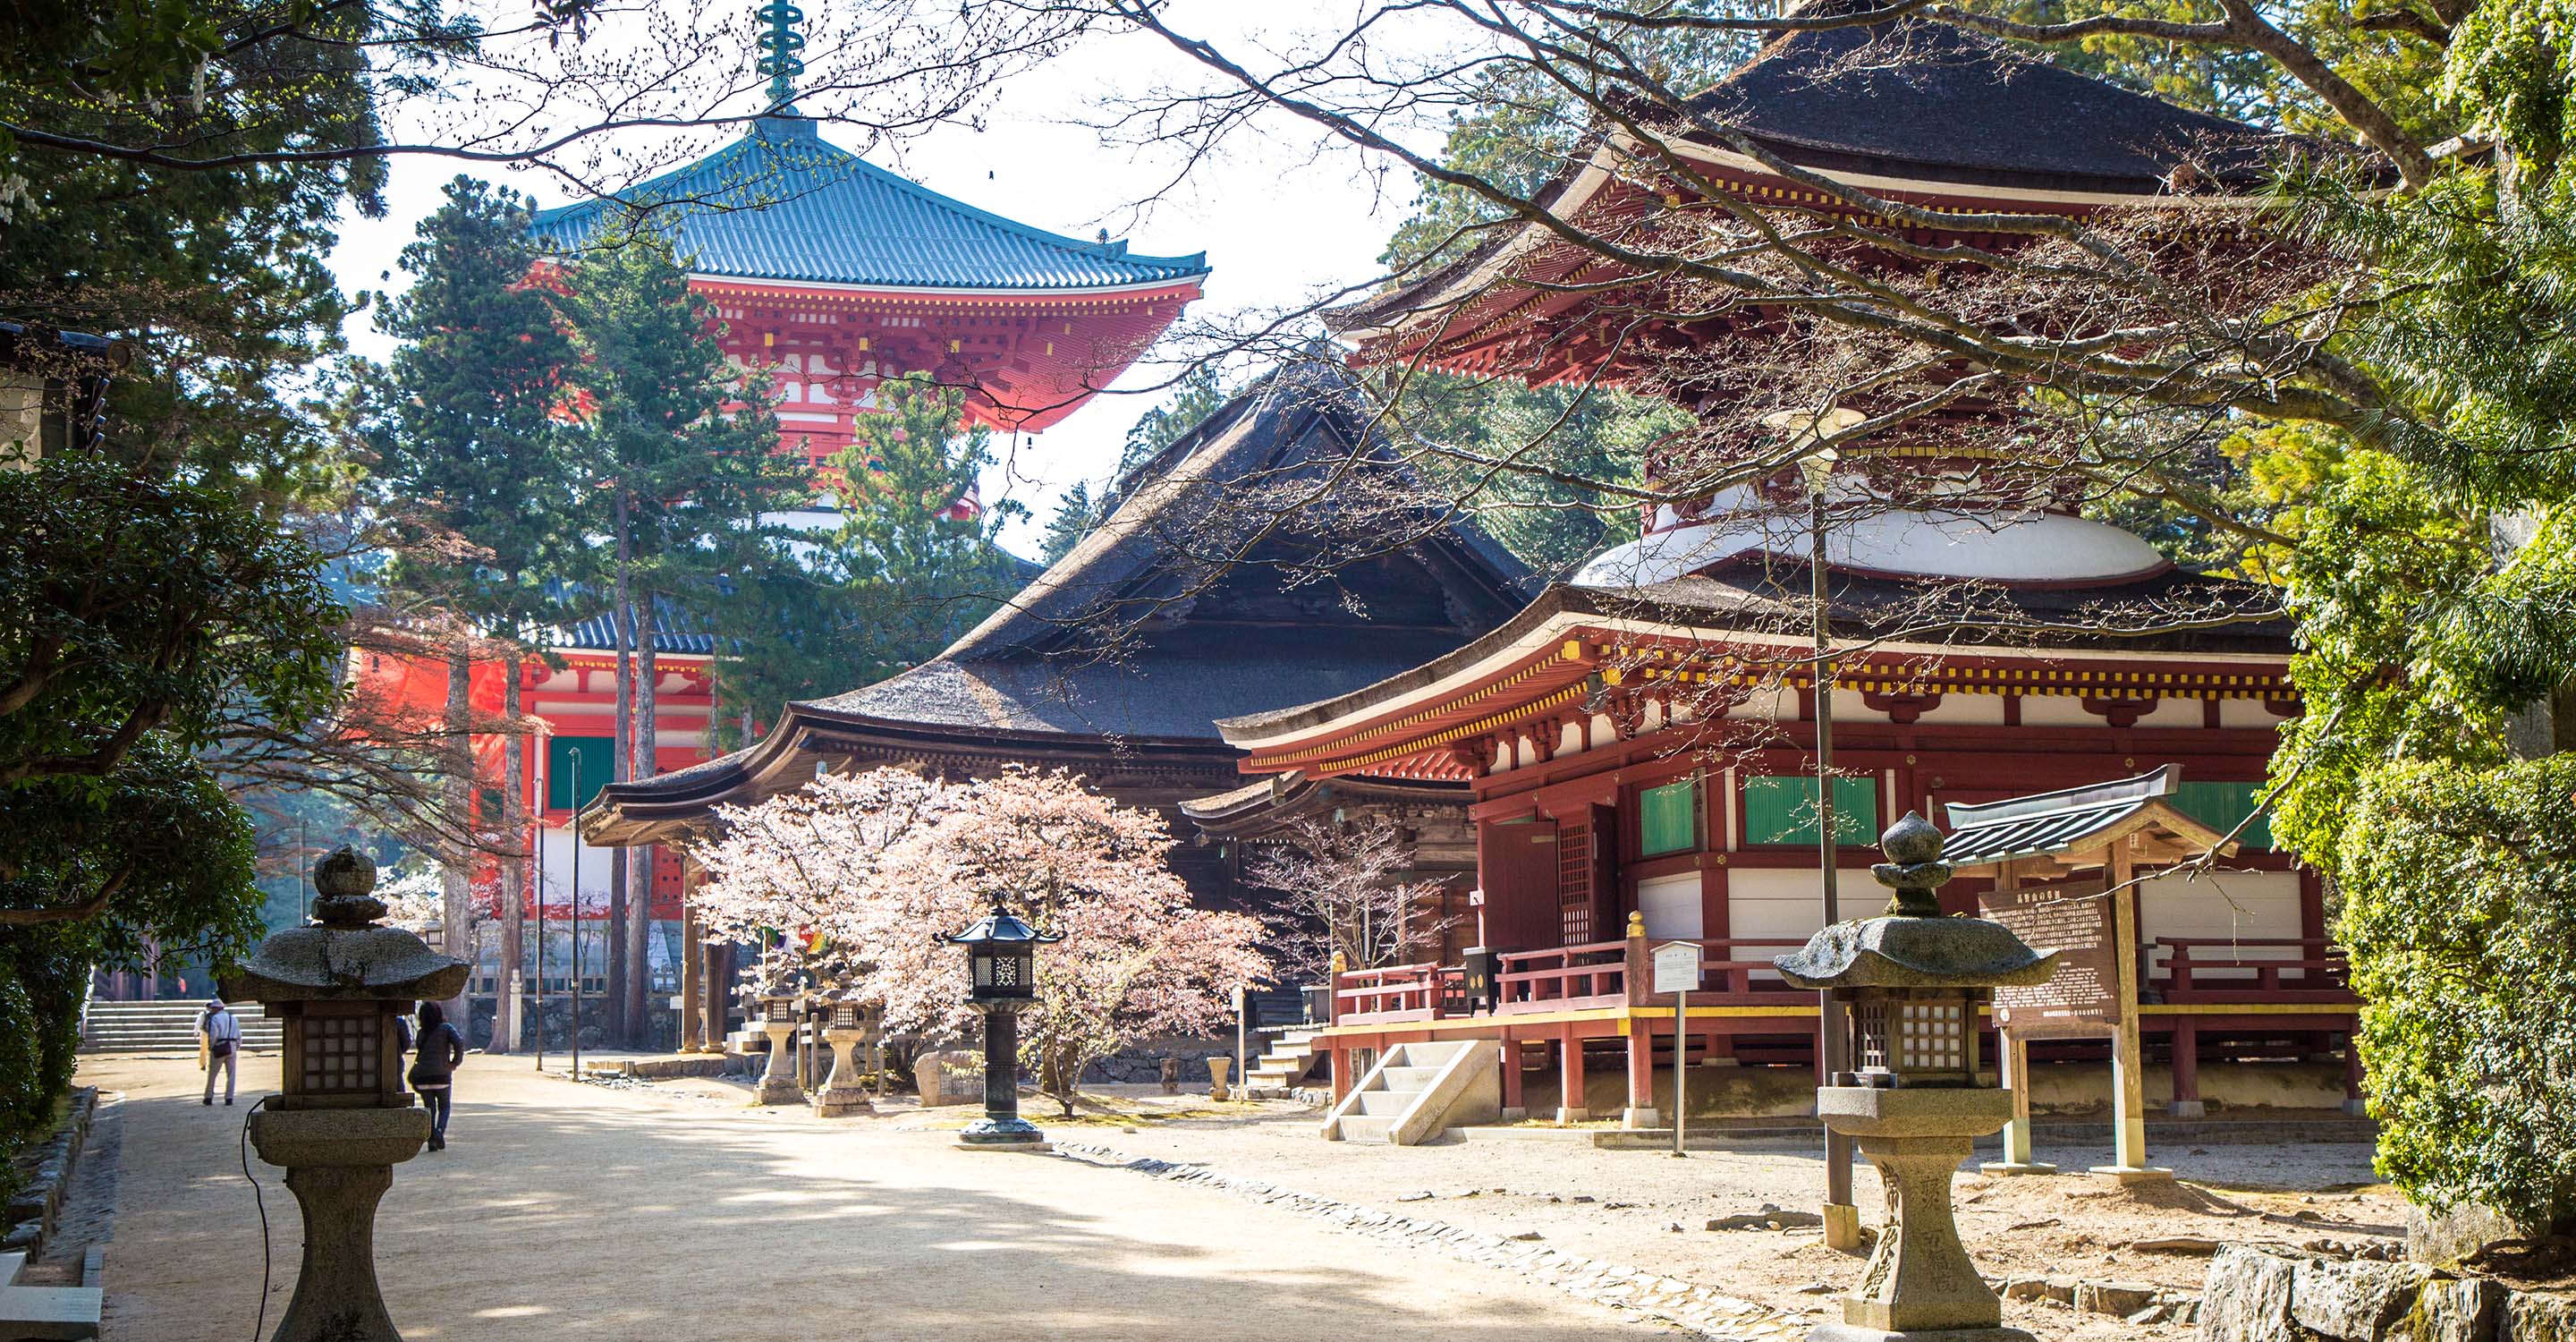
<path id="1" fill-rule="evenodd" d="M 1857 1141 L 1888 1190 L 1888 1224 L 1860 1290 L 1842 1298 L 1842 1324 L 1808 1337 L 2027 1339 L 2002 1327 L 2002 1301 L 1968 1262 L 1950 1175 L 1973 1139 L 2012 1118 L 2012 1092 L 1978 1074 L 1978 1007 L 1996 987 L 2045 984 L 2056 950 L 2032 950 L 2002 922 L 1945 917 L 1932 891 L 1950 863 L 1940 860 L 1940 829 L 1919 814 L 1878 845 L 1888 860 L 1870 873 L 1896 891 L 1886 917 L 1837 922 L 1772 961 L 1790 984 L 1847 1005 L 1852 1072 L 1826 1077 L 1816 1115 Z"/>

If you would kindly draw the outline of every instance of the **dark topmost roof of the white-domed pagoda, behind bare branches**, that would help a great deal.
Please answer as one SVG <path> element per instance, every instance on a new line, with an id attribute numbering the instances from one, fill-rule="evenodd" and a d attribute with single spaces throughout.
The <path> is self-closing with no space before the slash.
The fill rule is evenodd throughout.
<path id="1" fill-rule="evenodd" d="M 1868 13 L 1826 0 L 1801 15 Z M 1770 41 L 1692 111 L 1811 167 L 2156 196 L 2182 162 L 2254 185 L 2313 142 L 2061 70 L 1935 18 Z"/>

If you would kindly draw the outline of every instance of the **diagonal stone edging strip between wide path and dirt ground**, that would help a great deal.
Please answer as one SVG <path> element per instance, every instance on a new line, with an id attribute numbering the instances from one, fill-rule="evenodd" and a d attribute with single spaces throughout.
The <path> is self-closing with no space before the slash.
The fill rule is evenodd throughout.
<path id="1" fill-rule="evenodd" d="M 1803 1316 L 1780 1314 L 1777 1309 L 1723 1296 L 1680 1278 L 1646 1272 L 1643 1267 L 1600 1262 L 1564 1249 L 1450 1226 L 1445 1221 L 1396 1216 L 1391 1211 L 1358 1203 L 1316 1198 L 1314 1193 L 1296 1193 L 1262 1180 L 1221 1175 L 1208 1164 L 1131 1157 L 1087 1141 L 1056 1141 L 1056 1154 L 1103 1169 L 1128 1169 L 1157 1180 L 1216 1187 L 1239 1198 L 1288 1208 L 1298 1216 L 1332 1221 L 1355 1234 L 1394 1239 L 1417 1249 L 1437 1249 L 1458 1262 L 1502 1267 L 1507 1272 L 1553 1285 L 1574 1298 L 1674 1324 L 1718 1342 L 1795 1342 L 1803 1339 L 1808 1329 L 1808 1319 Z"/>

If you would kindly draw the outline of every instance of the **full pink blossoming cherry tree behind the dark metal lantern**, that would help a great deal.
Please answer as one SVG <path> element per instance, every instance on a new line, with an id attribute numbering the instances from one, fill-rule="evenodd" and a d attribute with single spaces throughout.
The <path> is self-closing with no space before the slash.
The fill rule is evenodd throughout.
<path id="1" fill-rule="evenodd" d="M 902 770 L 824 775 L 724 806 L 690 896 L 711 935 L 762 940 L 762 992 L 811 974 L 886 1012 L 889 1033 L 966 1038 L 966 974 L 935 932 L 1007 904 L 1061 943 L 1038 950 L 1020 1056 L 1074 1108 L 1082 1072 L 1157 1035 L 1226 1020 L 1236 984 L 1270 979 L 1262 927 L 1190 907 L 1162 817 L 1064 770 L 933 783 Z"/>

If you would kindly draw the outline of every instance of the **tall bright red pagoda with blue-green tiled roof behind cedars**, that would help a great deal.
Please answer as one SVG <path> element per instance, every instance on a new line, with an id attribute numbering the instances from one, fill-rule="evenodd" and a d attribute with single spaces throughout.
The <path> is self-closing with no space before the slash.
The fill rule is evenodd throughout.
<path id="1" fill-rule="evenodd" d="M 773 21 L 783 23 L 775 13 Z M 690 291 L 711 299 L 724 322 L 726 353 L 775 373 L 781 451 L 829 461 L 871 410 L 876 381 L 899 373 L 966 386 L 969 422 L 1043 433 L 1082 410 L 1198 299 L 1206 255 L 1144 255 L 940 196 L 822 139 L 814 121 L 786 106 L 793 93 L 786 77 L 778 72 L 773 82 L 781 113 L 742 139 L 631 191 L 541 211 L 533 224 L 567 265 L 580 265 L 582 247 L 626 216 L 667 232 Z M 806 520 L 829 525 L 832 513 L 829 482 L 819 482 Z M 662 675 L 654 765 L 667 773 L 711 757 L 714 644 L 670 610 L 652 623 Z M 595 618 L 551 641 L 562 670 L 531 662 L 523 672 L 526 711 L 546 721 L 549 737 L 526 752 L 518 786 L 538 817 L 546 917 L 572 914 L 577 881 L 582 917 L 595 920 L 605 917 L 611 855 L 580 845 L 569 822 L 611 783 L 613 628 Z M 438 714 L 443 667 L 366 662 L 361 677 Z M 497 662 L 474 667 L 474 698 L 497 711 Z M 477 757 L 497 783 L 500 742 L 477 742 Z M 654 992 L 675 992 L 680 863 L 654 853 Z M 497 899 L 492 873 L 479 889 Z M 528 912 L 533 920 L 536 899 Z M 528 963 L 533 976 L 533 956 Z M 587 963 L 603 958 L 592 950 Z M 546 966 L 551 989 L 562 989 L 562 943 Z M 489 987 L 484 976 L 474 992 Z"/>

